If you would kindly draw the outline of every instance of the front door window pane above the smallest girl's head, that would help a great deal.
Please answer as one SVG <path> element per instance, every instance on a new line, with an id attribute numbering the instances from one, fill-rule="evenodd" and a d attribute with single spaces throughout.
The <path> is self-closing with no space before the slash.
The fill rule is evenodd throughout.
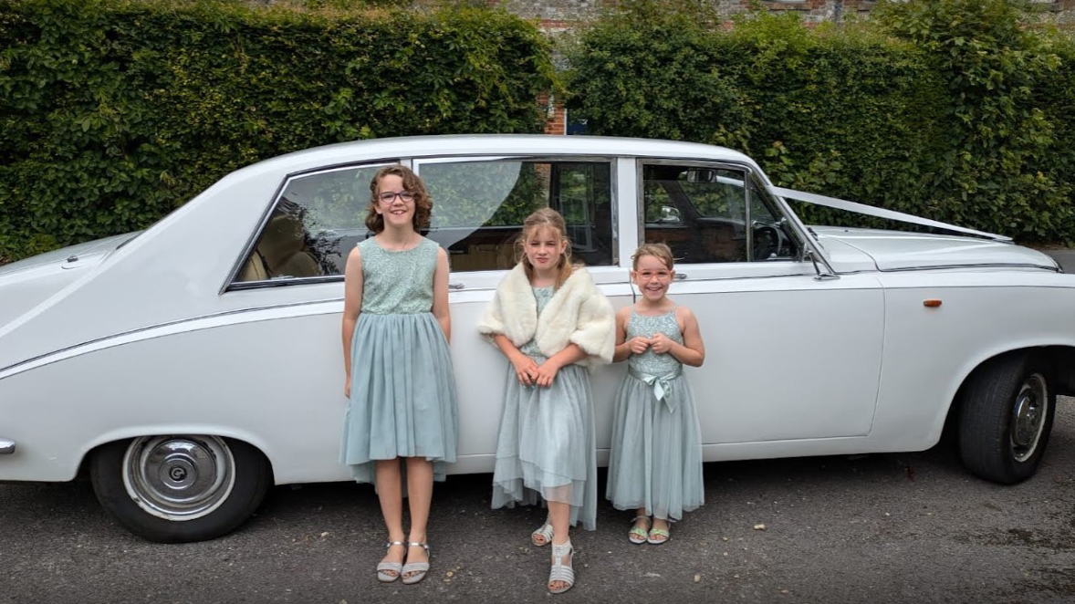
<path id="1" fill-rule="evenodd" d="M 645 241 L 668 244 L 677 263 L 748 260 L 743 182 L 739 170 L 644 164 Z"/>

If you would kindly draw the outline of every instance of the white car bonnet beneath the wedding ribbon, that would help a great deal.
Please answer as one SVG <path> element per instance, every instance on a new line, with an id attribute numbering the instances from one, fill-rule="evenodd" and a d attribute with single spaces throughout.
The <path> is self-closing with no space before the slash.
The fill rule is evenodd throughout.
<path id="1" fill-rule="evenodd" d="M 1059 270 L 1041 251 L 987 239 L 844 227 L 811 229 L 822 245 L 838 242 L 852 247 L 870 256 L 880 271 L 998 265 Z"/>

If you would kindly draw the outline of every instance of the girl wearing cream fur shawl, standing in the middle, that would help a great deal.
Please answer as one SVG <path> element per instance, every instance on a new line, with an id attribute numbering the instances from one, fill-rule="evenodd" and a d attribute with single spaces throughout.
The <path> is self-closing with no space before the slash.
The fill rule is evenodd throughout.
<path id="1" fill-rule="evenodd" d="M 507 357 L 497 437 L 492 507 L 548 504 L 531 534 L 553 544 L 548 590 L 575 583 L 569 526 L 593 530 L 597 460 L 587 369 L 612 360 L 612 304 L 571 261 L 563 217 L 548 207 L 522 224 L 520 260 L 504 277 L 478 330 Z"/>

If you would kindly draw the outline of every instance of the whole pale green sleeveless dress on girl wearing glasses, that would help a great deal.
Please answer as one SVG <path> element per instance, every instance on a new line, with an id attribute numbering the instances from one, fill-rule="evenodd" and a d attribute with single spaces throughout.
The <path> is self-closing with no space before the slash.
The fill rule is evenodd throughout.
<path id="1" fill-rule="evenodd" d="M 440 246 L 362 254 L 362 308 L 350 344 L 350 401 L 340 459 L 355 480 L 374 481 L 378 459 L 424 457 L 443 480 L 456 460 L 456 382 L 448 342 L 432 314 Z"/>

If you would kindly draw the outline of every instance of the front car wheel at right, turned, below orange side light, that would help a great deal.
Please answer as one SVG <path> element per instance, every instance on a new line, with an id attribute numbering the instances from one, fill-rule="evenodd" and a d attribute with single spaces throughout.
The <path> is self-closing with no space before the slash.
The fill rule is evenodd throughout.
<path id="1" fill-rule="evenodd" d="M 1033 476 L 1049 442 L 1056 404 L 1049 364 L 1041 355 L 1006 355 L 978 368 L 961 393 L 963 463 L 1004 485 Z"/>

